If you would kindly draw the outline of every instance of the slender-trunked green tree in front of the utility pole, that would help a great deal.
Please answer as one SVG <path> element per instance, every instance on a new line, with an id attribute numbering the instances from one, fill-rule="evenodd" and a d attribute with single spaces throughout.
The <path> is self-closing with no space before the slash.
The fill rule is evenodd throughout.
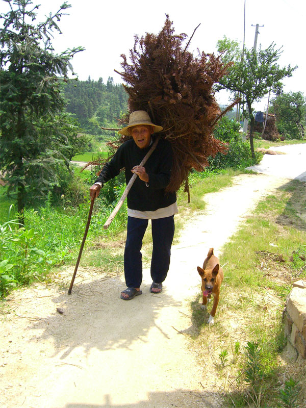
<path id="1" fill-rule="evenodd" d="M 227 89 L 235 97 L 240 93 L 242 103 L 246 104 L 247 107 L 244 114 L 250 120 L 250 147 L 252 158 L 255 159 L 252 105 L 254 102 L 259 102 L 270 89 L 279 93 L 283 86 L 281 81 L 285 77 L 291 77 L 296 67 L 290 65 L 283 68 L 279 67 L 277 61 L 282 51 L 275 49 L 274 43 L 266 49 L 245 48 L 243 59 L 241 59 L 242 50 L 239 49 L 237 42 L 225 38 L 218 41 L 217 46 L 218 51 L 223 53 L 224 62 L 230 60 L 234 62 L 228 73 L 219 81 L 217 90 Z"/>

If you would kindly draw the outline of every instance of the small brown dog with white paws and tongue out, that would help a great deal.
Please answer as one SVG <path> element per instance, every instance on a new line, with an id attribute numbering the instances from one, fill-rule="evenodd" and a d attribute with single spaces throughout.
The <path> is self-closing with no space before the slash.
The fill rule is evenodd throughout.
<path id="1" fill-rule="evenodd" d="M 219 303 L 220 286 L 224 276 L 219 260 L 214 256 L 214 248 L 210 248 L 208 251 L 207 258 L 203 263 L 203 269 L 198 266 L 197 270 L 202 278 L 203 302 L 201 309 L 207 309 L 207 299 L 210 300 L 211 295 L 214 297 L 213 309 L 208 319 L 208 324 L 213 324 Z"/>

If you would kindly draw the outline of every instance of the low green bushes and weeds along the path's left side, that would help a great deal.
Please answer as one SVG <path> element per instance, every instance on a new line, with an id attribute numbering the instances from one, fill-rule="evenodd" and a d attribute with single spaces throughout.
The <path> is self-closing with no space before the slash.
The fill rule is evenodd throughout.
<path id="1" fill-rule="evenodd" d="M 117 194 L 122 195 L 123 190 L 124 185 Z M 103 200 L 95 201 L 86 245 L 98 236 L 115 236 L 125 228 L 124 203 L 108 230 L 104 230 L 113 208 L 103 205 Z M 13 213 L 11 210 L 9 213 Z M 63 199 L 62 207 L 52 207 L 49 193 L 44 207 L 24 210 L 26 226 L 20 228 L 17 219 L 0 224 L 0 297 L 34 279 L 43 280 L 55 266 L 76 260 L 88 212 L 88 201 L 73 208 L 66 206 Z"/>

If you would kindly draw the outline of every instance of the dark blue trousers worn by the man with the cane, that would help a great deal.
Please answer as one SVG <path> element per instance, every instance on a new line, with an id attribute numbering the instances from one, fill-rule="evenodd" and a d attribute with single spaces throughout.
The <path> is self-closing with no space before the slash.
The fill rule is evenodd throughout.
<path id="1" fill-rule="evenodd" d="M 174 235 L 174 215 L 151 220 L 152 224 L 152 281 L 162 283 L 166 279 Z M 147 219 L 127 217 L 127 233 L 124 250 L 124 276 L 128 288 L 139 288 L 142 282 L 142 239 L 148 225 Z"/>

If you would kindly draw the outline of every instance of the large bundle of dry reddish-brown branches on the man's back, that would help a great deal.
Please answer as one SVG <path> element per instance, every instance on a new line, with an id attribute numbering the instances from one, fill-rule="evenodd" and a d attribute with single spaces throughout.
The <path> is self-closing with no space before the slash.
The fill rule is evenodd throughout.
<path id="1" fill-rule="evenodd" d="M 162 137 L 172 145 L 174 160 L 167 190 L 176 191 L 185 181 L 185 191 L 189 193 L 189 171 L 201 171 L 208 165 L 209 156 L 214 157 L 219 151 L 226 153 L 226 144 L 213 137 L 213 129 L 237 101 L 221 113 L 213 85 L 223 77 L 228 65 L 213 54 L 198 53 L 194 57 L 187 50 L 191 38 L 183 47 L 186 38 L 186 34 L 174 34 L 166 16 L 158 35 L 135 36 L 131 62 L 121 55 L 120 75 L 129 94 L 129 111 L 147 111 L 152 121 L 163 126 Z M 128 119 L 126 115 L 120 124 L 126 125 Z M 112 146 L 125 140 L 123 136 Z"/>

